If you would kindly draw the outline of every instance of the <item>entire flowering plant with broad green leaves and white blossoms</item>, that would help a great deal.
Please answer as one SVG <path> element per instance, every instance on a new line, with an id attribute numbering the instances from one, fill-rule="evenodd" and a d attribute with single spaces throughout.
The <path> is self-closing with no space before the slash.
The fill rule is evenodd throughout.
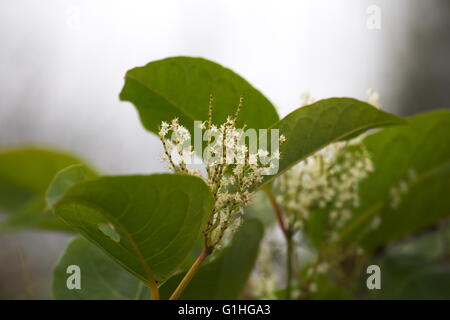
<path id="1" fill-rule="evenodd" d="M 169 173 L 0 153 L 1 230 L 79 234 L 57 299 L 367 297 L 380 252 L 450 214 L 448 111 L 405 120 L 370 91 L 369 103 L 304 96 L 280 119 L 242 77 L 189 57 L 129 70 L 120 99 L 159 136 Z"/>

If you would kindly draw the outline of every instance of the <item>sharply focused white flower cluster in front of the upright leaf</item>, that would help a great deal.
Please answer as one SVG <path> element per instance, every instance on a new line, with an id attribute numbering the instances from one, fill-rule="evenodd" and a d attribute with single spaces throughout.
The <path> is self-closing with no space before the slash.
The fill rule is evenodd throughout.
<path id="1" fill-rule="evenodd" d="M 203 156 L 206 177 L 199 170 L 188 167 L 186 158 L 194 155 L 191 136 L 177 119 L 171 123 L 162 122 L 159 131 L 164 147 L 163 160 L 169 162 L 170 168 L 203 178 L 211 189 L 215 207 L 204 230 L 205 244 L 211 248 L 219 245 L 228 227 L 240 225 L 243 208 L 250 202 L 252 189 L 262 181 L 265 170 L 272 168 L 274 160 L 280 158 L 278 150 L 272 150 L 269 155 L 263 149 L 252 152 L 246 145 L 244 130 L 236 128 L 241 105 L 242 98 L 235 115 L 216 126 L 212 123 L 210 98 L 209 119 L 201 123 L 201 129 L 206 129 L 208 143 Z M 279 141 L 284 140 L 281 135 Z"/>

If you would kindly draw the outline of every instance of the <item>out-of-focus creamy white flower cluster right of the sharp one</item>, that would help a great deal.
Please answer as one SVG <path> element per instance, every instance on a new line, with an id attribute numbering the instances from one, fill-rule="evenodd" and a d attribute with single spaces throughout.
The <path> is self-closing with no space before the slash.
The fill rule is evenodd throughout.
<path id="1" fill-rule="evenodd" d="M 363 145 L 338 142 L 277 178 L 277 200 L 291 230 L 304 228 L 312 212 L 325 208 L 330 224 L 342 227 L 359 206 L 359 183 L 371 171 L 373 164 Z"/>

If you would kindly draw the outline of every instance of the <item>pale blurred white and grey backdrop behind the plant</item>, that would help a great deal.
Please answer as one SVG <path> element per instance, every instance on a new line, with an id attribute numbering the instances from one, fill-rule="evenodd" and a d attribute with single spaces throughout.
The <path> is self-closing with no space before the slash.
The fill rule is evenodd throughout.
<path id="1" fill-rule="evenodd" d="M 295 109 L 305 91 L 315 99 L 365 99 L 368 88 L 379 91 L 385 109 L 400 113 L 401 69 L 415 64 L 411 33 L 417 26 L 425 34 L 436 27 L 440 20 L 433 17 L 441 9 L 435 4 L 439 1 L 2 1 L 0 147 L 30 142 L 59 147 L 108 174 L 165 170 L 157 138 L 118 94 L 126 70 L 177 55 L 202 56 L 233 69 L 281 115 Z M 381 29 L 367 27 L 371 5 L 381 10 Z M 448 70 L 448 57 L 443 61 Z M 439 66 L 435 71 L 442 73 Z M 16 285 L 26 282 L 17 248 L 24 250 L 34 297 L 48 297 L 50 267 L 66 240 L 29 232 L 1 235 L 0 298 L 25 297 L 25 285 Z"/>

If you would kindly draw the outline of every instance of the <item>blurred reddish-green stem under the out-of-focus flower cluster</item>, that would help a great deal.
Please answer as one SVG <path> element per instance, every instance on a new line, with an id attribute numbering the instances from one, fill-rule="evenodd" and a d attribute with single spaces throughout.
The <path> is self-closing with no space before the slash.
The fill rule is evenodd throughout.
<path id="1" fill-rule="evenodd" d="M 272 190 L 269 186 L 264 188 L 266 191 L 270 202 L 272 203 L 273 210 L 276 213 L 278 224 L 283 231 L 283 235 L 286 239 L 286 300 L 291 299 L 291 282 L 292 282 L 292 263 L 293 263 L 293 233 L 289 227 L 286 226 L 286 222 L 284 220 L 283 210 L 279 205 L 277 199 L 272 193 Z"/>

